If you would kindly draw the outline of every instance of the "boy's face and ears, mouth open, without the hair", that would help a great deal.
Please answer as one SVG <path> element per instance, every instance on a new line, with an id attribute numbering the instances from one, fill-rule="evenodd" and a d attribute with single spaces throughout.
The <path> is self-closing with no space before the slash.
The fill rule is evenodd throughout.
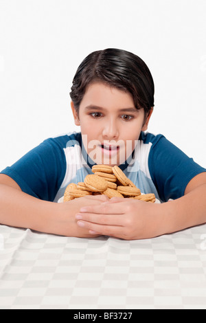
<path id="1" fill-rule="evenodd" d="M 146 131 L 144 109 L 135 108 L 130 93 L 101 82 L 89 85 L 79 113 L 71 102 L 75 124 L 81 127 L 87 154 L 96 164 L 123 164 L 135 149 L 141 131 Z"/>

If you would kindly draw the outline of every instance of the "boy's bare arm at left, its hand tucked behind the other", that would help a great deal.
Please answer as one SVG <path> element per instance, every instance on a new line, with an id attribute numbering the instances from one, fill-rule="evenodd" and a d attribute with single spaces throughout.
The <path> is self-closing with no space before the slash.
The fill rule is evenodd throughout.
<path id="1" fill-rule="evenodd" d="M 67 203 L 42 201 L 21 191 L 8 175 L 0 174 L 0 223 L 65 236 L 89 237 L 76 225 L 75 214 L 84 205 L 98 205 L 106 197 L 87 197 Z"/>

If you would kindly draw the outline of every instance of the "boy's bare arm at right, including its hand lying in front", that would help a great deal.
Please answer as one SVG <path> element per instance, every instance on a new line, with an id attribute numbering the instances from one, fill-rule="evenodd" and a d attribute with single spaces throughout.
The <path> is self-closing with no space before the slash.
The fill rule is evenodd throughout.
<path id="1" fill-rule="evenodd" d="M 152 204 L 113 198 L 84 208 L 76 215 L 78 225 L 93 234 L 126 240 L 152 238 L 206 223 L 206 172 L 194 177 L 185 195 L 174 201 Z"/>

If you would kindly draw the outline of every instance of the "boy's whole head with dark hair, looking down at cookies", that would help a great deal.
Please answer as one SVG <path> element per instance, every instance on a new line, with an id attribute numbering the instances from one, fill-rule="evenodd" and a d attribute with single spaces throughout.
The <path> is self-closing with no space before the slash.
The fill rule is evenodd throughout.
<path id="1" fill-rule="evenodd" d="M 123 164 L 154 106 L 154 83 L 143 60 L 119 49 L 93 52 L 78 67 L 70 96 L 89 157 L 96 164 Z"/>

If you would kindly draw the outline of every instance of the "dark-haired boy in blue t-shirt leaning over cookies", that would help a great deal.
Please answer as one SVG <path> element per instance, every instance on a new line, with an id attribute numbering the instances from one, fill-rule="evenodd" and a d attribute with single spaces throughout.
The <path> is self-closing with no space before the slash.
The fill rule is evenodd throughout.
<path id="1" fill-rule="evenodd" d="M 152 238 L 206 222 L 206 170 L 163 135 L 145 133 L 154 82 L 138 56 L 93 52 L 78 67 L 71 109 L 81 133 L 45 140 L 0 174 L 0 223 L 65 236 Z M 104 195 L 54 203 L 93 164 L 119 165 L 161 204 Z M 172 201 L 169 201 L 172 200 Z M 169 201 L 169 202 L 168 202 Z"/>

